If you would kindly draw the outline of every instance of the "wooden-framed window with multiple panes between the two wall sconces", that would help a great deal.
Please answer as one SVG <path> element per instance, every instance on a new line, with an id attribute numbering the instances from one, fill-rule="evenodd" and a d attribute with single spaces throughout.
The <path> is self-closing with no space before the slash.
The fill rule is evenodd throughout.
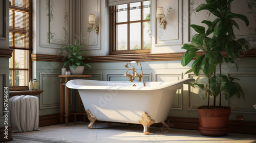
<path id="1" fill-rule="evenodd" d="M 150 3 L 144 1 L 110 8 L 111 54 L 150 53 Z"/>

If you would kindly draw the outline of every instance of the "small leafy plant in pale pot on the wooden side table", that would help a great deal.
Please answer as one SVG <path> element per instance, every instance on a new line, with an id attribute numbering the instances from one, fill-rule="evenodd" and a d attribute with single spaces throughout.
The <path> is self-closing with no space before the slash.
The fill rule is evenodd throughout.
<path id="1" fill-rule="evenodd" d="M 64 61 L 64 65 L 66 65 L 67 63 L 71 63 L 71 66 L 69 66 L 71 74 L 72 75 L 82 75 L 83 70 L 84 70 L 84 66 L 87 65 L 89 67 L 91 67 L 90 64 L 88 63 L 83 63 L 82 60 L 83 59 L 89 59 L 88 57 L 82 57 L 81 54 L 84 51 L 81 51 L 81 47 L 85 46 L 84 44 L 77 44 L 78 39 L 76 39 L 74 41 L 74 45 L 63 45 L 61 47 L 64 47 L 62 50 L 67 51 L 69 54 L 65 57 L 63 57 L 62 59 L 68 58 L 68 60 Z"/>

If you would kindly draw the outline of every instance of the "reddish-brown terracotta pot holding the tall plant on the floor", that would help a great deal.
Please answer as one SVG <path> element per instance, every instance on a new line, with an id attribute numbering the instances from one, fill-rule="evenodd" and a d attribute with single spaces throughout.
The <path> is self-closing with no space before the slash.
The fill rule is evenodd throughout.
<path id="1" fill-rule="evenodd" d="M 231 109 L 197 109 L 202 135 L 224 136 L 228 130 Z"/>

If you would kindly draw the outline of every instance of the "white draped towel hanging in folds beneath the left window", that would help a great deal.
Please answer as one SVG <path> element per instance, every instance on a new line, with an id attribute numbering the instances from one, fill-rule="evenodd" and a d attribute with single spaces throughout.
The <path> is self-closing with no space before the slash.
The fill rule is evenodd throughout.
<path id="1" fill-rule="evenodd" d="M 12 132 L 38 131 L 38 98 L 15 96 L 9 99 Z"/>

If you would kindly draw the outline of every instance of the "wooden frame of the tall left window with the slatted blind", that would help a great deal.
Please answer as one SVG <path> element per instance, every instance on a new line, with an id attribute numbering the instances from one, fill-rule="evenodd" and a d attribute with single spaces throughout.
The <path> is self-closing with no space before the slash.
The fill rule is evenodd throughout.
<path id="1" fill-rule="evenodd" d="M 12 33 L 12 37 L 9 37 L 9 38 L 12 38 L 12 45 L 10 45 L 10 49 L 13 50 L 13 53 L 12 53 L 12 68 L 9 68 L 9 71 L 12 71 L 12 85 L 9 85 L 9 90 L 10 91 L 17 91 L 17 90 L 29 90 L 29 79 L 32 78 L 32 62 L 31 62 L 31 54 L 32 54 L 32 0 L 27 0 L 29 1 L 29 7 L 30 9 L 26 9 L 26 8 L 17 8 L 15 7 L 15 1 L 12 1 L 11 5 L 10 5 L 10 9 L 9 10 L 13 10 L 13 11 L 20 11 L 20 12 L 25 12 L 25 13 L 29 13 L 27 16 L 29 17 L 26 17 L 28 19 L 28 25 L 29 25 L 29 30 L 26 31 L 24 30 L 23 28 L 15 28 L 15 25 L 14 25 L 14 21 L 15 21 L 15 18 L 12 19 L 12 27 L 10 26 L 10 32 L 9 33 Z M 22 4 L 24 4 L 24 2 L 22 2 Z M 14 17 L 14 12 L 12 12 L 12 18 Z M 27 23 L 25 21 L 23 21 L 23 25 L 25 27 L 25 25 L 27 25 Z M 24 47 L 14 47 L 14 42 L 15 42 L 15 38 L 14 38 L 14 34 L 17 33 L 17 34 L 20 34 L 20 35 L 26 35 L 27 34 L 29 35 L 29 39 L 26 39 L 27 37 L 25 36 L 24 37 L 24 40 L 27 41 L 27 42 L 24 42 Z M 24 50 L 24 68 L 15 68 L 15 50 Z M 26 62 L 25 62 L 26 61 Z M 24 85 L 26 86 L 13 86 L 15 85 L 15 74 L 14 72 L 17 71 L 17 70 L 20 70 L 20 71 L 24 71 Z"/>

